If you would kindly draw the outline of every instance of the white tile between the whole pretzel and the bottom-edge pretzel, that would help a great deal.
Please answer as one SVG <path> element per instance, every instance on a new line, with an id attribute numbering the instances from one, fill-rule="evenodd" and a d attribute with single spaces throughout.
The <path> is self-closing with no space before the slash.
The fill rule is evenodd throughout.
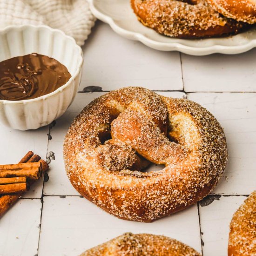
<path id="1" fill-rule="evenodd" d="M 153 223 L 140 223 L 120 220 L 79 196 L 47 196 L 44 198 L 39 256 L 77 256 L 125 232 L 169 236 L 201 251 L 196 205 Z"/>

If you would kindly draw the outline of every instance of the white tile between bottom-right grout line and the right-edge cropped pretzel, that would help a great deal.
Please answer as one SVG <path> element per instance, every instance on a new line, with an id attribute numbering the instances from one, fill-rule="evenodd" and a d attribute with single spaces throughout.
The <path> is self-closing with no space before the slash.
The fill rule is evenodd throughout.
<path id="1" fill-rule="evenodd" d="M 252 192 L 252 191 L 251 191 Z M 202 250 L 205 256 L 227 256 L 229 223 L 245 196 L 222 196 L 206 207 L 199 208 Z"/>

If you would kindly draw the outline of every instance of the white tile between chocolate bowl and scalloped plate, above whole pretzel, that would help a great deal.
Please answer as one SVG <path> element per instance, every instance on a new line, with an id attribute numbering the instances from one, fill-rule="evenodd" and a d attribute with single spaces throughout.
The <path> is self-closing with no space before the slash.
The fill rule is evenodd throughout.
<path id="1" fill-rule="evenodd" d="M 87 86 L 100 86 L 104 91 L 126 86 L 183 89 L 178 52 L 159 52 L 124 39 L 101 21 L 96 22 L 83 52 L 80 90 Z"/>

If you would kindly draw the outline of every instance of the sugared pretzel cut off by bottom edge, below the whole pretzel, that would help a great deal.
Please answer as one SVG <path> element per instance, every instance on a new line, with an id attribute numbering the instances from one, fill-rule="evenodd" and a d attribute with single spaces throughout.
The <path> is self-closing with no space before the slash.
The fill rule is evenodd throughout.
<path id="1" fill-rule="evenodd" d="M 188 245 L 166 236 L 125 233 L 81 256 L 200 256 Z"/>

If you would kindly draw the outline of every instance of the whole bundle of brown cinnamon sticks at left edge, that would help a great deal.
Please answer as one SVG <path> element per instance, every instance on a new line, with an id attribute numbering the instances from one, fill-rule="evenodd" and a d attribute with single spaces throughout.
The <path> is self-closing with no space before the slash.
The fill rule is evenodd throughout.
<path id="1" fill-rule="evenodd" d="M 47 162 L 32 151 L 17 164 L 0 165 L 0 217 L 48 168 Z"/>

